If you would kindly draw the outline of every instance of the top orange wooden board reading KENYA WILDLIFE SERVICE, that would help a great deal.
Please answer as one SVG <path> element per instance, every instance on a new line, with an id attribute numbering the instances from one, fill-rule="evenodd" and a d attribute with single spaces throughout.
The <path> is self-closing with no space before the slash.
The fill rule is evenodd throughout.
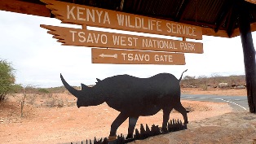
<path id="1" fill-rule="evenodd" d="M 202 39 L 201 27 L 160 20 L 142 15 L 88 7 L 55 0 L 41 0 L 51 9 L 55 18 L 68 24 L 121 29 L 141 33 L 154 33 L 174 37 Z"/>

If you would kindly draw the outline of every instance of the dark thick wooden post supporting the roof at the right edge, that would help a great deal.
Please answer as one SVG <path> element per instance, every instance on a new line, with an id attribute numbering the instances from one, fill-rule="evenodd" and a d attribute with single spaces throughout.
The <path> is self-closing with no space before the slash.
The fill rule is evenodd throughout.
<path id="1" fill-rule="evenodd" d="M 244 51 L 245 79 L 249 112 L 256 113 L 256 61 L 252 33 L 249 24 L 247 2 L 241 2 L 239 28 Z M 247 6 L 248 7 L 248 6 Z"/>

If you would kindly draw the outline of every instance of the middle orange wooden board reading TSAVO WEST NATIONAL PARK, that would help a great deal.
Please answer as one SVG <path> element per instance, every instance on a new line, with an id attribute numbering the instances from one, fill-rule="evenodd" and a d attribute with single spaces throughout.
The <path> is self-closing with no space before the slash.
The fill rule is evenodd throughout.
<path id="1" fill-rule="evenodd" d="M 203 44 L 192 41 L 175 41 L 155 37 L 140 37 L 135 35 L 107 33 L 78 28 L 64 28 L 43 25 L 48 33 L 59 39 L 63 45 L 104 47 L 131 50 L 157 50 L 183 53 L 203 53 Z"/>

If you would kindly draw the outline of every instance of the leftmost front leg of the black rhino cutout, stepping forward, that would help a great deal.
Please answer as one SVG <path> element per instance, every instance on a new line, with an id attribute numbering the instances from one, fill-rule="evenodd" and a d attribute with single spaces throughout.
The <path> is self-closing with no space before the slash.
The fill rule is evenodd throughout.
<path id="1" fill-rule="evenodd" d="M 128 118 L 127 115 L 120 113 L 116 120 L 111 124 L 111 130 L 109 136 L 116 136 L 118 127 Z"/>

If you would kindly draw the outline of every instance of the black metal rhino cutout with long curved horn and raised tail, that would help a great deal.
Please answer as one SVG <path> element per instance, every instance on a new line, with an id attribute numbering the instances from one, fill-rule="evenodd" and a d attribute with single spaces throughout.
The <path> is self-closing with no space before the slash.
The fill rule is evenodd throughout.
<path id="1" fill-rule="evenodd" d="M 184 72 L 187 72 L 184 71 Z M 179 80 L 170 73 L 160 73 L 149 78 L 138 78 L 129 75 L 97 79 L 96 85 L 82 85 L 81 90 L 74 89 L 64 80 L 61 81 L 68 91 L 77 97 L 77 107 L 96 106 L 106 102 L 109 107 L 120 111 L 111 124 L 110 137 L 115 137 L 118 127 L 129 117 L 127 138 L 133 136 L 139 116 L 152 116 L 163 110 L 162 131 L 166 132 L 170 111 L 174 108 L 183 115 L 184 124 L 188 124 L 186 109 L 180 103 Z"/>

